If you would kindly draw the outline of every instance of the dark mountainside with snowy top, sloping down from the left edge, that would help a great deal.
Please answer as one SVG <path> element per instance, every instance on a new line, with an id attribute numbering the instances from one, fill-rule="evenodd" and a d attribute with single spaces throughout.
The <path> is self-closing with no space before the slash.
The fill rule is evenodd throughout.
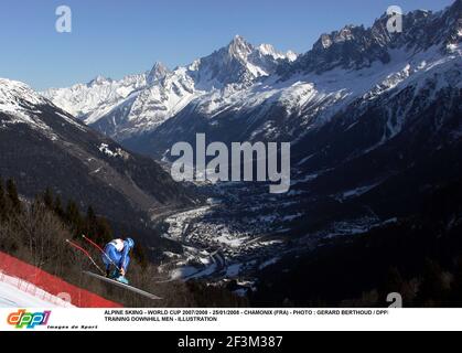
<path id="1" fill-rule="evenodd" d="M 107 81 L 94 85 L 106 85 Z M 95 132 L 26 85 L 0 79 L 0 174 L 33 197 L 46 188 L 114 220 L 135 224 L 190 203 L 149 158 Z"/>

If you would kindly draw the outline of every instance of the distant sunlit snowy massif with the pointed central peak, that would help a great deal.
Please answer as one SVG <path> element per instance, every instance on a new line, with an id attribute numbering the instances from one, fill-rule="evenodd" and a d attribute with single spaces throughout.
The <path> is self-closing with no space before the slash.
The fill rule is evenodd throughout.
<path id="1" fill-rule="evenodd" d="M 296 58 L 292 52 L 280 53 L 269 44 L 254 46 L 237 35 L 186 67 L 169 71 L 155 63 L 150 72 L 121 81 L 97 77 L 86 85 L 42 94 L 100 132 L 123 140 L 154 130 L 198 97 L 243 89 Z"/>

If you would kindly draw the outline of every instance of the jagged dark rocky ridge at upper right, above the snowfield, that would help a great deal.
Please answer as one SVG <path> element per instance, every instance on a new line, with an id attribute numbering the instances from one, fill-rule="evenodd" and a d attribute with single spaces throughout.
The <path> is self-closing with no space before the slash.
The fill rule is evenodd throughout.
<path id="1" fill-rule="evenodd" d="M 460 43 L 462 32 L 462 0 L 456 0 L 443 11 L 416 10 L 404 14 L 402 33 L 389 33 L 389 17 L 384 13 L 374 24 L 346 25 L 339 31 L 325 33 L 311 51 L 300 55 L 290 65 L 278 68 L 282 77 L 304 73 L 324 73 L 334 68 L 362 69 L 374 63 L 387 64 L 396 50 L 425 52 L 432 46 L 441 52 L 453 50 Z"/>

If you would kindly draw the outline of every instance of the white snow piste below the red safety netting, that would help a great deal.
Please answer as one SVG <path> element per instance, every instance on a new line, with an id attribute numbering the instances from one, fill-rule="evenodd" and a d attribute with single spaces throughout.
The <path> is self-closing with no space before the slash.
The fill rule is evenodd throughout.
<path id="1" fill-rule="evenodd" d="M 0 308 L 72 308 L 61 298 L 14 277 L 0 275 Z"/>

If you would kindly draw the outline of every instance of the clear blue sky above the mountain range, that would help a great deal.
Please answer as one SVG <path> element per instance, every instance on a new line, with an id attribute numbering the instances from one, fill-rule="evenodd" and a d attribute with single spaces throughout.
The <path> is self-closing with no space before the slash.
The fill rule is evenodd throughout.
<path id="1" fill-rule="evenodd" d="M 155 61 L 184 65 L 240 34 L 250 43 L 302 53 L 321 33 L 370 25 L 391 4 L 440 10 L 452 0 L 1 0 L 0 77 L 36 89 L 120 78 Z M 55 31 L 69 6 L 73 32 Z"/>

